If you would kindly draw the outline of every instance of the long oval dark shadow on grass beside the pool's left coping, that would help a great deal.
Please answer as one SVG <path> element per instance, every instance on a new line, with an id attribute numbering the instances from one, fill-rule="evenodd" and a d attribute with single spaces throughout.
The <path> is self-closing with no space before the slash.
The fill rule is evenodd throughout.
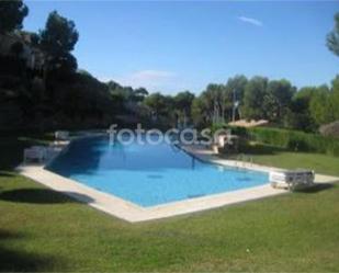
<path id="1" fill-rule="evenodd" d="M 70 195 L 74 198 L 67 196 Z M 75 200 L 76 198 L 76 200 Z M 20 189 L 0 192 L 0 200 L 8 202 L 31 204 L 64 204 L 64 203 L 92 203 L 87 195 L 72 192 L 55 192 L 48 189 Z"/>

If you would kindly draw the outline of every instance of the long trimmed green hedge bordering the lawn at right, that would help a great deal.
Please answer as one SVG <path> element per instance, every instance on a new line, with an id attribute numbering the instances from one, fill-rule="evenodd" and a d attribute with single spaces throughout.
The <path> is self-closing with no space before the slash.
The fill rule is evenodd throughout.
<path id="1" fill-rule="evenodd" d="M 331 137 L 278 128 L 247 129 L 251 140 L 294 151 L 313 151 L 339 156 L 339 141 Z"/>

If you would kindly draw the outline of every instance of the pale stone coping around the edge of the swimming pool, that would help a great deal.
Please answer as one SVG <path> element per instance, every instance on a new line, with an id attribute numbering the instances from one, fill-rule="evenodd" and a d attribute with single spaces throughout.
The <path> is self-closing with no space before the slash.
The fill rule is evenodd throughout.
<path id="1" fill-rule="evenodd" d="M 66 149 L 68 145 L 65 146 Z M 185 152 L 196 157 L 200 160 L 224 167 L 236 167 L 240 169 L 263 172 L 283 170 L 259 164 L 246 163 L 236 160 L 216 158 L 207 149 L 193 146 L 182 146 L 181 148 Z M 273 189 L 269 183 L 267 183 L 263 185 L 236 190 L 231 192 L 212 194 L 184 201 L 156 205 L 151 207 L 142 207 L 135 203 L 128 202 L 113 194 L 101 192 L 93 187 L 81 184 L 75 180 L 70 180 L 59 174 L 56 174 L 52 171 L 46 170 L 44 167 L 45 166 L 21 164 L 16 168 L 16 170 L 20 172 L 20 174 L 32 179 L 52 190 L 64 193 L 72 198 L 76 198 L 79 202 L 86 203 L 91 207 L 100 209 L 117 218 L 124 219 L 128 223 L 139 223 L 197 213 L 202 211 L 287 193 L 286 190 Z M 336 181 L 339 181 L 339 178 L 321 174 L 316 174 L 315 178 L 315 182 L 317 183 L 334 183 Z"/>

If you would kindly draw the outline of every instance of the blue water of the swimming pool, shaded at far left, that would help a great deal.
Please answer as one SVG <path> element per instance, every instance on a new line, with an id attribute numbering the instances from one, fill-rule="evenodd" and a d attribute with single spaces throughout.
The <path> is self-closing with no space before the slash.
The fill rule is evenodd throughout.
<path id="1" fill-rule="evenodd" d="M 48 168 L 144 207 L 268 183 L 268 174 L 202 162 L 176 146 L 74 141 Z"/>

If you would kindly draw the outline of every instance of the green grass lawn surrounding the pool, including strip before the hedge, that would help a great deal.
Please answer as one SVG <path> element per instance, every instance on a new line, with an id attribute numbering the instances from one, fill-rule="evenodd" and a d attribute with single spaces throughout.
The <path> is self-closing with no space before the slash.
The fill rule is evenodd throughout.
<path id="1" fill-rule="evenodd" d="M 32 139 L 0 140 L 0 271 L 339 271 L 338 185 L 131 225 L 15 174 Z M 256 161 L 339 171 L 318 155 Z"/>

